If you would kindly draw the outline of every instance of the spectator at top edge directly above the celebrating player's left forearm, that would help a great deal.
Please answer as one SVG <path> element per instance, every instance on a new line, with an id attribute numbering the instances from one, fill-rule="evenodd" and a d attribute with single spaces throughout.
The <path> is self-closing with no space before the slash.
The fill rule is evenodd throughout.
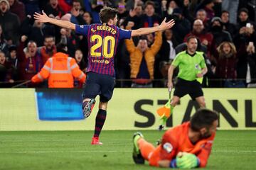
<path id="1" fill-rule="evenodd" d="M 58 5 L 58 0 L 50 0 L 49 3 L 44 8 L 44 12 L 48 16 L 53 16 L 53 18 L 60 19 L 65 13 Z"/>

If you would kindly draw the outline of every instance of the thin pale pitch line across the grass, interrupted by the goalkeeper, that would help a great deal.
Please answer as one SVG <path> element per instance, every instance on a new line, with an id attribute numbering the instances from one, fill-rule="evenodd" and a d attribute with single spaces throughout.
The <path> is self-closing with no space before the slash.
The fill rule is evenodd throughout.
<path id="1" fill-rule="evenodd" d="M 17 152 L 0 152 L 0 154 L 48 154 L 48 153 L 105 153 L 105 152 L 132 152 L 131 150 L 98 150 L 98 151 L 17 151 Z M 213 152 L 229 153 L 256 153 L 256 150 L 213 150 Z"/>

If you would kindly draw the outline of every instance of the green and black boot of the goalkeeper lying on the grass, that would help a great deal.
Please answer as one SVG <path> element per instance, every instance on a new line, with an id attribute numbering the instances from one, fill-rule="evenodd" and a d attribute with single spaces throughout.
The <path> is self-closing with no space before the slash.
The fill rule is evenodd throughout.
<path id="1" fill-rule="evenodd" d="M 132 152 L 132 159 L 134 160 L 135 164 L 144 164 L 145 159 L 142 157 L 142 154 L 139 150 L 139 146 L 137 145 L 137 140 L 139 140 L 140 137 L 143 137 L 141 132 L 134 133 L 134 136 L 132 138 L 132 142 L 134 144 L 133 152 Z"/>

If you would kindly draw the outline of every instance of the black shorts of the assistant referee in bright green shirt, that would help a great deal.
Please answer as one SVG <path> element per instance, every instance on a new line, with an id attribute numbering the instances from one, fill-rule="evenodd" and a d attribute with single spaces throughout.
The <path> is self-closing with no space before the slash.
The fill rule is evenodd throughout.
<path id="1" fill-rule="evenodd" d="M 189 94 L 193 100 L 196 98 L 203 96 L 203 90 L 201 84 L 194 81 L 186 81 L 184 79 L 178 78 L 178 81 L 175 86 L 174 96 L 178 96 L 179 98 Z"/>

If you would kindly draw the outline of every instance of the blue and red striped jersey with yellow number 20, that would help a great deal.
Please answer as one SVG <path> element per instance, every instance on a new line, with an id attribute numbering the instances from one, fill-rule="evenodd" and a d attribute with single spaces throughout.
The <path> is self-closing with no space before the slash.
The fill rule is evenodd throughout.
<path id="1" fill-rule="evenodd" d="M 114 55 L 118 42 L 122 39 L 130 39 L 132 31 L 97 23 L 76 25 L 75 32 L 87 35 L 89 50 L 86 72 L 96 72 L 114 77 Z"/>

